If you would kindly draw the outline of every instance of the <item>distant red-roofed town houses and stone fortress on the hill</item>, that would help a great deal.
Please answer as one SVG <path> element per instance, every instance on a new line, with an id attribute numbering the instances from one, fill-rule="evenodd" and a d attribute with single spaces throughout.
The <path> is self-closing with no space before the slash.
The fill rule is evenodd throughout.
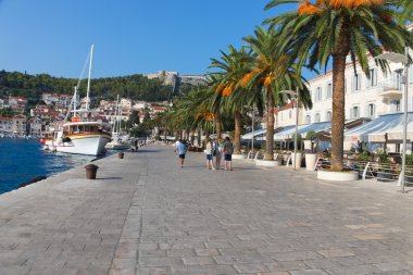
<path id="1" fill-rule="evenodd" d="M 148 79 L 160 79 L 164 85 L 177 83 L 203 85 L 205 76 L 179 76 L 178 72 L 161 71 L 157 74 L 145 75 Z M 78 108 L 86 105 L 86 97 L 75 99 Z M 1 137 L 42 137 L 55 123 L 63 121 L 73 102 L 73 95 L 58 92 L 42 92 L 40 104 L 30 105 L 29 100 L 22 96 L 0 98 L 0 135 Z M 170 107 L 170 101 L 148 102 L 120 98 L 117 100 L 100 100 L 93 113 L 102 121 L 113 123 L 115 120 L 129 121 L 134 114 L 138 123 L 153 120 L 160 112 Z M 8 111 L 8 112 L 5 112 Z"/>

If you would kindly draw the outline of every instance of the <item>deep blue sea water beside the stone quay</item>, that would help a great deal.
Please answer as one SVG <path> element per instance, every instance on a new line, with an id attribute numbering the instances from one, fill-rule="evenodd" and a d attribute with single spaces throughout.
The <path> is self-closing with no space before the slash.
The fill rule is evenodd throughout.
<path id="1" fill-rule="evenodd" d="M 45 151 L 38 139 L 0 138 L 0 193 L 14 190 L 35 177 L 49 177 L 95 159 L 97 157 Z"/>

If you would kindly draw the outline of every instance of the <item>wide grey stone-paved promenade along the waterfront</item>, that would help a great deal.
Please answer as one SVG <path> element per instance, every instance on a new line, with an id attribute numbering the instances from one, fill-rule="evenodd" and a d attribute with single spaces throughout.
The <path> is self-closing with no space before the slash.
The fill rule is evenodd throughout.
<path id="1" fill-rule="evenodd" d="M 151 145 L 0 196 L 0 275 L 413 274 L 413 193 Z"/>

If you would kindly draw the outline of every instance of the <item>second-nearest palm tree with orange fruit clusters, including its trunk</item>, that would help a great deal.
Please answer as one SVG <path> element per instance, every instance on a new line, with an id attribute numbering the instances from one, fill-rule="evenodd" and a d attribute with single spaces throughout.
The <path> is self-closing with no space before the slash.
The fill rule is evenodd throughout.
<path id="1" fill-rule="evenodd" d="M 280 33 L 272 29 L 259 28 L 255 36 L 245 38 L 258 58 L 252 70 L 242 78 L 241 86 L 250 89 L 259 88 L 266 99 L 266 146 L 264 160 L 274 160 L 274 105 L 286 102 L 286 95 L 281 90 L 291 90 L 298 87 L 300 97 L 305 104 L 311 105 L 306 86 L 300 76 L 298 66 L 289 57 L 286 40 Z"/>

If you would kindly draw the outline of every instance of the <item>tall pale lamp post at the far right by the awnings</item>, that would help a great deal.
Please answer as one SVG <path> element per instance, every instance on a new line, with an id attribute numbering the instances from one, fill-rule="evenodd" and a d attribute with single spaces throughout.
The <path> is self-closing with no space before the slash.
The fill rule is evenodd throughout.
<path id="1" fill-rule="evenodd" d="M 404 107 L 403 107 L 403 150 L 402 150 L 402 162 L 401 162 L 401 192 L 404 192 L 404 182 L 405 182 L 405 149 L 406 149 L 406 136 L 408 136 L 408 91 L 409 91 L 409 48 L 404 48 L 404 55 L 396 52 L 386 52 L 375 59 L 386 60 L 393 63 L 402 63 L 404 65 Z M 386 148 L 385 148 L 386 150 Z"/>

